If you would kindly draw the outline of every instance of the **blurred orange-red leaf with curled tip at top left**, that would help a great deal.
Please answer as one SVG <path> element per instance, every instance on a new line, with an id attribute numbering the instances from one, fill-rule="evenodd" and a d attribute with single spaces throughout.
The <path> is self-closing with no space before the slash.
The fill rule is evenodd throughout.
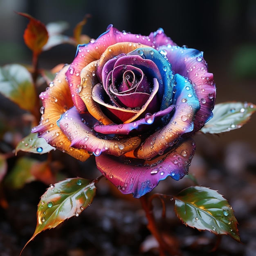
<path id="1" fill-rule="evenodd" d="M 18 12 L 18 14 L 29 19 L 29 23 L 23 35 L 25 44 L 34 54 L 40 54 L 49 38 L 45 25 L 27 13 Z"/>

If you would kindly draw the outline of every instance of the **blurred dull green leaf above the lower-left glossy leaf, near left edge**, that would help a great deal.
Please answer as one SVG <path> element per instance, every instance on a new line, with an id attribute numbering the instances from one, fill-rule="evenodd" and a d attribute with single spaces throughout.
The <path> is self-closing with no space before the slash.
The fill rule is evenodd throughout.
<path id="1" fill-rule="evenodd" d="M 35 177 L 31 174 L 31 168 L 35 163 L 38 163 L 35 159 L 19 158 L 13 169 L 8 173 L 5 183 L 12 189 L 21 189 L 26 183 L 34 181 Z"/>

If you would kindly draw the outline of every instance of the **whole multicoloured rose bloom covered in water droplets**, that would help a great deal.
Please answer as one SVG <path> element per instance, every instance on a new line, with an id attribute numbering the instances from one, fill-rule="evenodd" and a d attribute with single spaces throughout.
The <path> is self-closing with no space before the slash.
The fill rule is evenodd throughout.
<path id="1" fill-rule="evenodd" d="M 158 29 L 149 36 L 112 25 L 78 45 L 74 61 L 40 94 L 48 144 L 97 168 L 135 198 L 160 180 L 188 173 L 191 135 L 211 119 L 216 98 L 203 53 L 178 47 Z"/>

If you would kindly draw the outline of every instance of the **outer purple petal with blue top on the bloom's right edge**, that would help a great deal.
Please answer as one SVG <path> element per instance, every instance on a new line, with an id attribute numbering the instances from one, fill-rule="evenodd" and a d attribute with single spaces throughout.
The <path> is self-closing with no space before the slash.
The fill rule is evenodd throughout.
<path id="1" fill-rule="evenodd" d="M 162 46 L 159 49 L 167 52 L 166 57 L 171 62 L 173 71 L 187 77 L 194 85 L 201 105 L 200 110 L 195 115 L 194 130 L 191 132 L 191 134 L 194 134 L 213 116 L 212 110 L 216 98 L 213 74 L 208 73 L 203 53 L 198 50 L 177 46 Z"/>

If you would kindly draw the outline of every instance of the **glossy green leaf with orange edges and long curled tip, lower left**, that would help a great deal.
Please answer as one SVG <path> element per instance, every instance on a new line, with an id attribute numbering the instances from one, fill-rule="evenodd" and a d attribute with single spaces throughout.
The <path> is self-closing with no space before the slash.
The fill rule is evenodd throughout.
<path id="1" fill-rule="evenodd" d="M 26 245 L 40 232 L 57 227 L 72 216 L 79 216 L 91 204 L 95 192 L 94 182 L 82 178 L 51 184 L 41 196 L 37 208 L 36 230 Z"/>

